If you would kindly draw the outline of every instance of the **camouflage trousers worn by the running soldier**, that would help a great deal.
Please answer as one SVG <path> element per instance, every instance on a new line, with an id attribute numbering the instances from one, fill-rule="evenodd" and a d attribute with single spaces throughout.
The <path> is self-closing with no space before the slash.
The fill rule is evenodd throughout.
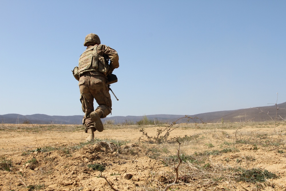
<path id="1" fill-rule="evenodd" d="M 104 76 L 85 72 L 80 77 L 78 85 L 80 86 L 80 101 L 82 103 L 82 111 L 84 112 L 82 124 L 87 131 L 88 128 L 94 127 L 94 122 L 89 116 L 94 111 L 94 99 L 99 105 L 96 111 L 99 113 L 100 118 L 105 118 L 111 113 L 112 103 Z"/>

